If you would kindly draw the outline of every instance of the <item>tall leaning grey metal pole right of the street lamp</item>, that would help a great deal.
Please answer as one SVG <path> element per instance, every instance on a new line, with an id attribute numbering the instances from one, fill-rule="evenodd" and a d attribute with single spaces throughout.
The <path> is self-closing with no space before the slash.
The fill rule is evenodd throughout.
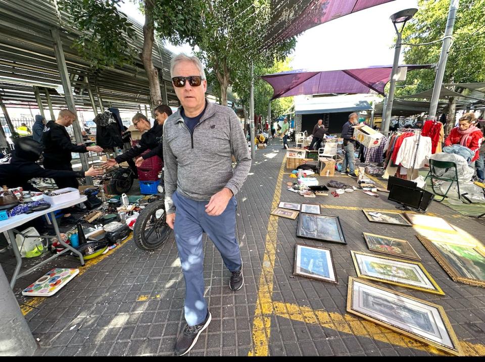
<path id="1" fill-rule="evenodd" d="M 448 60 L 448 53 L 452 41 L 453 27 L 455 26 L 456 12 L 460 5 L 459 0 L 450 1 L 450 9 L 448 11 L 448 20 L 446 22 L 445 39 L 441 47 L 440 61 L 438 62 L 438 69 L 436 71 L 436 78 L 434 78 L 433 95 L 429 105 L 428 116 L 436 116 L 438 110 L 438 100 L 440 98 L 441 85 L 445 75 L 446 62 Z"/>

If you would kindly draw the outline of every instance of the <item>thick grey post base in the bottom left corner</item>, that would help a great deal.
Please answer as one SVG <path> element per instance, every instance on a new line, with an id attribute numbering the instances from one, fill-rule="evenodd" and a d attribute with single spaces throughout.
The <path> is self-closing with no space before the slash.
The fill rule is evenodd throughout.
<path id="1" fill-rule="evenodd" d="M 15 242 L 15 239 L 13 239 Z M 15 247 L 15 246 L 14 246 Z M 0 356 L 33 355 L 37 349 L 3 268 L 0 268 Z"/>

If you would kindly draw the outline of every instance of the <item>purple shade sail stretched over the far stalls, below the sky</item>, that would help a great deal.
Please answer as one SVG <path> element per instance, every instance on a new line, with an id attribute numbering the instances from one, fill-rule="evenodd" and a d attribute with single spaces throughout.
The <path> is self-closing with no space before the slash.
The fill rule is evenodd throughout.
<path id="1" fill-rule="evenodd" d="M 430 68 L 431 65 L 401 65 L 408 70 Z M 273 87 L 273 97 L 324 93 L 370 93 L 384 94 L 392 66 L 371 66 L 360 69 L 344 69 L 311 72 L 292 70 L 263 75 L 261 79 Z"/>

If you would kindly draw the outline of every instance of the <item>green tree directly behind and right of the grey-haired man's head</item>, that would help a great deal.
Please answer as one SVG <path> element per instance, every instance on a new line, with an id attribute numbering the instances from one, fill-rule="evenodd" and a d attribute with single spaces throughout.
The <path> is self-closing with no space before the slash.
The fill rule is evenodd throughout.
<path id="1" fill-rule="evenodd" d="M 197 56 L 208 69 L 209 82 L 219 84 L 221 105 L 227 105 L 229 85 L 237 94 L 249 93 L 251 61 L 255 69 L 271 67 L 295 47 L 293 37 L 262 49 L 270 16 L 269 0 L 207 0 Z"/>

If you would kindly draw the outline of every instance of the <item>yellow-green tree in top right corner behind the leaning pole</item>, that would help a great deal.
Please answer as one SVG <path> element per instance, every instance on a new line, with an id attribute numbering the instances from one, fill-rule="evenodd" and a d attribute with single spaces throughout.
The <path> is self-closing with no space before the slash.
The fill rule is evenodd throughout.
<path id="1" fill-rule="evenodd" d="M 419 0 L 419 11 L 406 24 L 403 42 L 425 43 L 443 38 L 450 0 Z M 453 44 L 443 78 L 444 83 L 485 81 L 485 0 L 461 0 L 453 31 Z M 430 45 L 403 45 L 406 64 L 433 64 L 440 59 L 442 42 Z M 408 73 L 406 87 L 398 88 L 396 95 L 410 94 L 430 89 L 434 70 L 415 70 Z M 461 92 L 458 87 L 455 91 Z M 455 119 L 455 97 L 449 99 L 447 126 Z M 449 127 L 447 130 L 449 131 Z M 448 132 L 447 132 L 448 133 Z"/>

